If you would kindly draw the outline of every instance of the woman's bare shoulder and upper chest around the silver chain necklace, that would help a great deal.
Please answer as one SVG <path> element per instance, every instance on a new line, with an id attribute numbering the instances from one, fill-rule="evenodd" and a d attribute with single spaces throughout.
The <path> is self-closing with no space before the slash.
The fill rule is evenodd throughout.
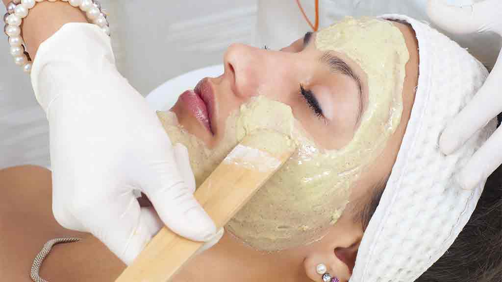
<path id="1" fill-rule="evenodd" d="M 46 241 L 79 237 L 56 245 L 40 269 L 49 281 L 114 281 L 126 267 L 89 233 L 61 227 L 52 214 L 51 172 L 36 166 L 0 170 L 0 273 L 2 281 L 31 282 L 33 258 Z M 37 232 L 33 232 L 37 230 Z"/>

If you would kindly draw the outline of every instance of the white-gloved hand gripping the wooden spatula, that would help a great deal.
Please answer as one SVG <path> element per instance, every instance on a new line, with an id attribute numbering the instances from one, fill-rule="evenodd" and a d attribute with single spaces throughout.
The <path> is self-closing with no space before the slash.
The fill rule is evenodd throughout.
<path id="1" fill-rule="evenodd" d="M 40 45 L 32 84 L 49 120 L 53 213 L 62 226 L 92 233 L 128 264 L 162 222 L 215 243 L 215 225 L 193 197 L 187 149 L 171 146 L 97 26 L 66 24 Z M 155 210 L 141 208 L 133 190 Z"/>

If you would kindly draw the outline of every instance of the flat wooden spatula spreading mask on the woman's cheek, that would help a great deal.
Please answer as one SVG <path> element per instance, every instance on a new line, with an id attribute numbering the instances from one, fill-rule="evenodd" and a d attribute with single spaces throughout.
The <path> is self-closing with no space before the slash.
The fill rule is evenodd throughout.
<path id="1" fill-rule="evenodd" d="M 246 135 L 197 189 L 195 199 L 219 229 L 295 150 L 289 137 L 275 131 Z M 164 227 L 115 282 L 166 282 L 202 245 Z"/>

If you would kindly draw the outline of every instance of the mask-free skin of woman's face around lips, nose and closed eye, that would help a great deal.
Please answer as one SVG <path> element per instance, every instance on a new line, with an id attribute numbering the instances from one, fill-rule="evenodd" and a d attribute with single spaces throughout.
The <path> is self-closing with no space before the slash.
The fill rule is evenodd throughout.
<path id="1" fill-rule="evenodd" d="M 308 33 L 280 51 L 231 45 L 224 56 L 223 75 L 199 82 L 185 92 L 172 110 L 180 124 L 209 148 L 225 134 L 231 112 L 250 98 L 264 95 L 291 107 L 312 139 L 326 149 L 339 149 L 352 138 L 367 101 L 366 76 L 341 53 L 338 69 L 315 46 Z M 339 69 L 352 70 L 353 76 Z M 270 118 L 274 118 L 271 116 Z M 329 132 L 329 134 L 326 134 Z"/>

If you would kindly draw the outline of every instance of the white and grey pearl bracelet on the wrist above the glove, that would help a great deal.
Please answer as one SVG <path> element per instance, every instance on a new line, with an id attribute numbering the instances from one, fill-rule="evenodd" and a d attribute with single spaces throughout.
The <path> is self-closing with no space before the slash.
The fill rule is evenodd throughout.
<path id="1" fill-rule="evenodd" d="M 31 58 L 26 52 L 26 44 L 21 37 L 21 23 L 28 16 L 30 9 L 35 7 L 37 2 L 44 0 L 12 0 L 7 5 L 7 14 L 4 15 L 4 33 L 9 36 L 11 45 L 11 55 L 14 57 L 16 65 L 23 67 L 24 72 L 30 73 L 32 68 Z M 58 0 L 47 0 L 56 2 Z M 110 28 L 106 13 L 101 10 L 101 5 L 96 0 L 61 0 L 68 2 L 73 7 L 78 7 L 85 13 L 87 20 L 98 27 L 106 34 L 110 35 Z"/>

